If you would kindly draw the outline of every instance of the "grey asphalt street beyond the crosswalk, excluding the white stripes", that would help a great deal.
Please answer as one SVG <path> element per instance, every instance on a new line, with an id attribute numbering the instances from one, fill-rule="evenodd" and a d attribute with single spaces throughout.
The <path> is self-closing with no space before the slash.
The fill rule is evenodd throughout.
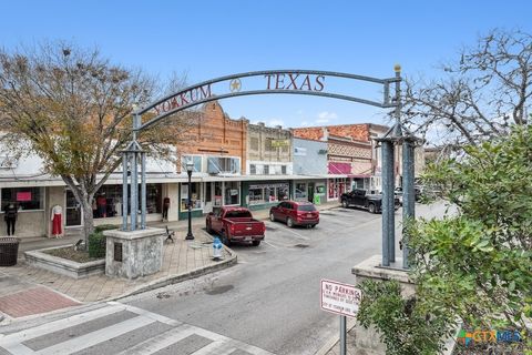
<path id="1" fill-rule="evenodd" d="M 319 281 L 352 283 L 351 266 L 380 253 L 380 231 L 381 215 L 351 209 L 324 211 L 316 229 L 268 222 L 266 243 L 233 247 L 237 266 L 127 302 L 275 354 L 314 354 L 338 333 L 338 317 L 319 308 Z"/>

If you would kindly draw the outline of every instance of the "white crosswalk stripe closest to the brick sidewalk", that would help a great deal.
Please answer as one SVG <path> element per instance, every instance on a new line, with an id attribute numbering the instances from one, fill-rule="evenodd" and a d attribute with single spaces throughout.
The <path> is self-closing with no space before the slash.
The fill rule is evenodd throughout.
<path id="1" fill-rule="evenodd" d="M 38 336 L 42 336 L 42 335 L 47 335 L 47 334 L 62 331 L 65 328 L 70 328 L 72 326 L 80 325 L 85 322 L 100 318 L 105 315 L 111 315 L 113 313 L 117 313 L 124 310 L 125 310 L 125 305 L 116 304 L 111 307 L 106 306 L 106 307 L 98 308 L 94 311 L 89 311 L 86 313 L 80 313 L 80 314 L 70 316 L 68 318 L 58 320 L 43 325 L 39 325 L 23 332 L 6 335 L 0 339 L 1 342 L 0 344 L 27 342 Z"/>

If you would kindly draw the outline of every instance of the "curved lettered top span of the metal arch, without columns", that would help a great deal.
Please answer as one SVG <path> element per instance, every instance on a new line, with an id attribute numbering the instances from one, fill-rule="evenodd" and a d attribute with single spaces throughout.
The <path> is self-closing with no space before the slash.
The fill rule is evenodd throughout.
<path id="1" fill-rule="evenodd" d="M 241 79 L 260 75 L 263 75 L 263 79 L 266 79 L 266 89 L 241 91 Z M 326 88 L 325 80 L 327 77 L 344 78 L 381 84 L 383 87 L 383 99 L 381 102 L 377 102 L 346 94 L 324 92 Z M 213 93 L 212 85 L 224 81 L 231 81 L 231 92 Z M 172 93 L 165 98 L 152 102 L 145 108 L 137 110 L 136 112 L 134 112 L 134 115 L 136 116 L 140 116 L 151 110 L 155 110 L 157 115 L 142 124 L 141 120 L 137 120 L 136 123 L 134 123 L 133 125 L 133 130 L 135 132 L 142 131 L 168 115 L 202 103 L 244 95 L 276 93 L 304 94 L 358 102 L 362 104 L 374 105 L 377 108 L 395 108 L 397 106 L 398 101 L 391 100 L 389 88 L 391 83 L 399 83 L 400 81 L 400 75 L 396 75 L 395 78 L 378 79 L 365 75 L 316 70 L 264 70 L 245 72 L 239 74 L 231 74 L 191 85 L 176 93 Z"/>

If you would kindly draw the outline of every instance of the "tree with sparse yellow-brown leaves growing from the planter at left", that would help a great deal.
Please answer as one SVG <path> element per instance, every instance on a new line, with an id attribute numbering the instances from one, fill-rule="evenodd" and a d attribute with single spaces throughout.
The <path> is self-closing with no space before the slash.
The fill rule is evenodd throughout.
<path id="1" fill-rule="evenodd" d="M 19 156 L 37 153 L 59 175 L 83 213 L 85 242 L 93 231 L 94 194 L 121 162 L 131 140 L 131 112 L 156 92 L 141 70 L 112 64 L 98 50 L 64 42 L 0 50 L 0 130 Z M 163 120 L 164 121 L 164 120 Z M 165 155 L 190 128 L 180 115 L 143 132 L 140 143 Z"/>

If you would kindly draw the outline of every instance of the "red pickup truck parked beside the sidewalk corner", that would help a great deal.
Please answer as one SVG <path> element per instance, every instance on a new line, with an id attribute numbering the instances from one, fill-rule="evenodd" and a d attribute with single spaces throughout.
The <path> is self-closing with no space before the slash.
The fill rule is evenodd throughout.
<path id="1" fill-rule="evenodd" d="M 207 232 L 218 234 L 225 245 L 231 242 L 252 242 L 258 246 L 266 231 L 264 222 L 254 220 L 245 207 L 216 209 L 207 214 L 205 225 Z"/>

